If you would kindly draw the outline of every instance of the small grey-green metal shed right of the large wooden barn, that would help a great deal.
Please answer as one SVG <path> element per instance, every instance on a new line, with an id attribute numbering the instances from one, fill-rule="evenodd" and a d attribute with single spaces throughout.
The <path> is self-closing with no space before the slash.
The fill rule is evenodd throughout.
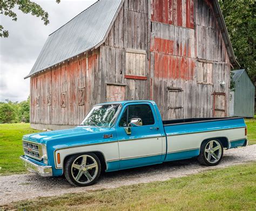
<path id="1" fill-rule="evenodd" d="M 255 87 L 245 69 L 232 71 L 235 90 L 230 92 L 230 116 L 254 117 Z"/>

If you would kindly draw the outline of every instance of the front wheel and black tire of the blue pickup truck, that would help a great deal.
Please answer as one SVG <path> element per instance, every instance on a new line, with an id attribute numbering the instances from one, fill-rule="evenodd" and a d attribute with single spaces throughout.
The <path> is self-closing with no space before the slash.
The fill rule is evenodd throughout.
<path id="1" fill-rule="evenodd" d="M 89 166 L 95 167 L 89 168 Z M 100 165 L 99 158 L 95 153 L 87 152 L 83 154 L 74 154 L 65 162 L 64 175 L 66 180 L 72 185 L 82 187 L 90 186 L 95 184 L 98 180 L 101 168 L 102 166 Z"/>

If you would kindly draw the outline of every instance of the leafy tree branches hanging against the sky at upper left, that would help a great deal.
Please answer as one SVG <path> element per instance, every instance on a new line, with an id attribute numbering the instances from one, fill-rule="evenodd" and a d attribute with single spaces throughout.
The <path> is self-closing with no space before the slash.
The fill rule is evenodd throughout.
<path id="1" fill-rule="evenodd" d="M 59 3 L 60 0 L 56 0 L 56 2 Z M 48 12 L 45 12 L 40 5 L 30 0 L 0 0 L 0 14 L 9 16 L 12 20 L 17 21 L 17 15 L 14 12 L 15 6 L 23 13 L 31 13 L 32 16 L 41 17 L 44 25 L 49 24 Z M 6 38 L 8 36 L 9 32 L 4 30 L 4 27 L 0 25 L 0 37 Z"/>

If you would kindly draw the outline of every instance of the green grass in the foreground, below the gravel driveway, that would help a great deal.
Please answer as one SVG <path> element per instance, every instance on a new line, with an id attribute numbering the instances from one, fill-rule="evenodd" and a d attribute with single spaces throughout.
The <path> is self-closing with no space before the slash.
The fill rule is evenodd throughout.
<path id="1" fill-rule="evenodd" d="M 21 201 L 5 208 L 19 210 L 255 210 L 255 176 L 256 163 L 247 163 L 163 182 Z"/>

